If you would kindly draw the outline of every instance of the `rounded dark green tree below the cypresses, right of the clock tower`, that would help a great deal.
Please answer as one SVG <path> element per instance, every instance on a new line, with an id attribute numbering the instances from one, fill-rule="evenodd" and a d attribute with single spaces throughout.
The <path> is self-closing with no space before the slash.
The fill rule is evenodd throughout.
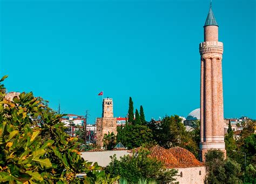
<path id="1" fill-rule="evenodd" d="M 152 141 L 152 131 L 145 125 L 126 124 L 124 127 L 117 128 L 117 142 L 122 142 L 128 149 L 136 148 Z"/>

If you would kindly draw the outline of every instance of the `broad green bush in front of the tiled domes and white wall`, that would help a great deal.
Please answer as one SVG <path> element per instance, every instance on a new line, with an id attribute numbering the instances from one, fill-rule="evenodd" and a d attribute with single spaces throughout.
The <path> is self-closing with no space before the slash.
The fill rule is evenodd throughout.
<path id="1" fill-rule="evenodd" d="M 112 156 L 112 160 L 106 167 L 106 173 L 111 176 L 120 175 L 121 178 L 128 182 L 138 183 L 140 179 L 155 180 L 157 182 L 172 182 L 175 179 L 177 171 L 170 169 L 167 171 L 163 163 L 154 158 L 150 158 L 147 149 L 140 149 L 134 152 L 132 156 L 125 155 L 117 160 L 116 155 Z"/>

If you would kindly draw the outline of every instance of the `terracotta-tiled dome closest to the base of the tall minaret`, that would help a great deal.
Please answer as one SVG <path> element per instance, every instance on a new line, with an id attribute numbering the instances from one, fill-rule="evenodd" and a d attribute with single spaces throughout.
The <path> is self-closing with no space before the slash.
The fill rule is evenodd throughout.
<path id="1" fill-rule="evenodd" d="M 180 167 L 200 167 L 204 166 L 202 162 L 196 159 L 190 151 L 181 147 L 172 147 L 168 151 L 175 156 Z"/>

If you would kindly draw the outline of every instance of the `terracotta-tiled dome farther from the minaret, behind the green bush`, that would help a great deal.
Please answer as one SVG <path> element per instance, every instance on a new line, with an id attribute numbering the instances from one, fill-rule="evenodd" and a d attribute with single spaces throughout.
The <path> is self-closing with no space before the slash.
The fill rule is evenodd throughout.
<path id="1" fill-rule="evenodd" d="M 156 158 L 158 161 L 163 162 L 167 166 L 177 167 L 178 161 L 171 154 L 171 152 L 167 151 L 167 149 L 161 146 L 153 146 L 150 149 L 150 156 L 152 158 Z"/>

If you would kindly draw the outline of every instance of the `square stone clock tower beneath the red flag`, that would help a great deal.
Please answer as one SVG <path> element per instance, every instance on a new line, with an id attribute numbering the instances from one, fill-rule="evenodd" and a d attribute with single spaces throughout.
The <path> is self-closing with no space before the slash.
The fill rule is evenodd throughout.
<path id="1" fill-rule="evenodd" d="M 113 115 L 112 98 L 104 98 L 102 103 L 102 118 L 97 118 L 97 142 L 96 144 L 103 147 L 104 134 L 113 132 L 117 135 L 117 119 Z"/>

